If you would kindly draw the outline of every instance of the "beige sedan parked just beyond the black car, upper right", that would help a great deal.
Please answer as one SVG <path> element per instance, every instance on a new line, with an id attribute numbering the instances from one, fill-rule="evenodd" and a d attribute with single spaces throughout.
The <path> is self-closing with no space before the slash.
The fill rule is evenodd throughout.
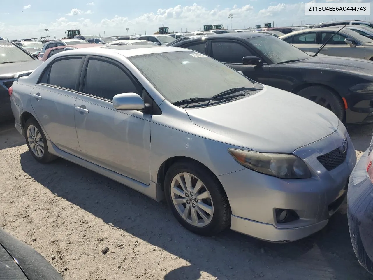
<path id="1" fill-rule="evenodd" d="M 312 28 L 291 32 L 279 38 L 304 52 L 316 52 L 337 31 L 335 27 Z M 344 28 L 329 40 L 320 53 L 373 60 L 373 40 Z"/>

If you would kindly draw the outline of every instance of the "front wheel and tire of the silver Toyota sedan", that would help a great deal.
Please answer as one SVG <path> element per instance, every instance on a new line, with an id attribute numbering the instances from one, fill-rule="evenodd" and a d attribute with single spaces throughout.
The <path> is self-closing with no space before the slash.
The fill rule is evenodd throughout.
<path id="1" fill-rule="evenodd" d="M 216 235 L 231 223 L 231 209 L 222 185 L 198 162 L 173 164 L 167 170 L 164 191 L 176 220 L 193 233 Z"/>

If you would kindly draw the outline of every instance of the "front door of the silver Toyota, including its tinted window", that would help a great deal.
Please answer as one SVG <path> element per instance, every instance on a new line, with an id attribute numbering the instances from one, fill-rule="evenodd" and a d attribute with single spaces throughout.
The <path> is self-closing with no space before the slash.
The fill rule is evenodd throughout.
<path id="1" fill-rule="evenodd" d="M 115 61 L 91 56 L 86 63 L 74 105 L 83 158 L 149 185 L 151 115 L 119 111 L 112 103 L 115 94 L 142 95 L 141 85 Z"/>

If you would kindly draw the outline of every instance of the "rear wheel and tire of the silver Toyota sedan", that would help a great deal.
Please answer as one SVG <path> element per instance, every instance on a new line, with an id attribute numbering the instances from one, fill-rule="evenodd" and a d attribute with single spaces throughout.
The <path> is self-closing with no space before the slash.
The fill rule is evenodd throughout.
<path id="1" fill-rule="evenodd" d="M 31 155 L 38 162 L 47 163 L 57 158 L 49 153 L 47 139 L 35 118 L 30 118 L 26 121 L 25 139 Z"/>

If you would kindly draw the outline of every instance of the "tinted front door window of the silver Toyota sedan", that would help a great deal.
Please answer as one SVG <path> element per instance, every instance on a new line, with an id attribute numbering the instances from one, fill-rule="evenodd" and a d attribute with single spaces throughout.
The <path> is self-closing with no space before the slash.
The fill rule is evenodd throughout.
<path id="1" fill-rule="evenodd" d="M 102 60 L 89 60 L 84 93 L 113 100 L 115 94 L 128 92 L 137 93 L 137 88 L 122 69 Z"/>

